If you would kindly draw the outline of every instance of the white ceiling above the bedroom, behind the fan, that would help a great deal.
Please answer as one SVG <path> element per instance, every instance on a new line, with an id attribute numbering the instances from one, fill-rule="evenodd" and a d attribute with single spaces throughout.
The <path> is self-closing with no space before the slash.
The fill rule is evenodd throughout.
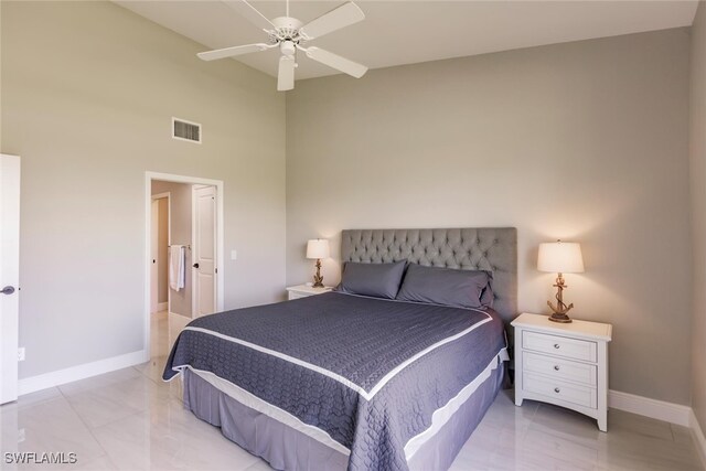
<path id="1" fill-rule="evenodd" d="M 221 1 L 116 3 L 204 44 L 204 51 L 267 42 L 267 35 Z M 269 19 L 285 15 L 285 1 L 250 2 Z M 290 15 L 313 20 L 341 1 L 292 0 Z M 317 39 L 329 50 L 370 68 L 507 51 L 542 44 L 687 26 L 698 1 L 409 1 L 359 0 L 361 23 Z M 238 57 L 277 76 L 277 49 Z M 297 78 L 338 72 L 301 54 Z"/>

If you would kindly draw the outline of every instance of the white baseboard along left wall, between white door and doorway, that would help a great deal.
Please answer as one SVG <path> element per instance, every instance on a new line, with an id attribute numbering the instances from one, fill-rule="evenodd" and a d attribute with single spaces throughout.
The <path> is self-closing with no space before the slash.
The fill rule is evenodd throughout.
<path id="1" fill-rule="evenodd" d="M 126 353 L 125 355 L 113 356 L 97 362 L 84 363 L 83 365 L 69 368 L 57 370 L 42 375 L 30 376 L 18 382 L 18 393 L 20 396 L 35 390 L 46 389 L 53 386 L 84 379 L 116 370 L 127 368 L 149 361 L 147 351 Z"/>

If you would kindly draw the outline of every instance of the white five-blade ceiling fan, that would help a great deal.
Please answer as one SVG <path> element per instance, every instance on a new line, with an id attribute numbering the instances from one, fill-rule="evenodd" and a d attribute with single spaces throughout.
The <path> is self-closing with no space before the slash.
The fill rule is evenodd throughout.
<path id="1" fill-rule="evenodd" d="M 324 34 L 357 23 L 365 19 L 363 11 L 352 1 L 322 14 L 315 20 L 303 24 L 289 15 L 289 0 L 287 0 L 287 14 L 285 17 L 268 20 L 263 13 L 246 0 L 225 1 L 228 7 L 240 13 L 253 24 L 265 31 L 269 40 L 267 43 L 247 44 L 207 51 L 196 54 L 203 61 L 235 57 L 252 52 L 266 51 L 279 47 L 279 71 L 277 74 L 277 89 L 290 90 L 295 88 L 295 68 L 297 67 L 297 51 L 303 52 L 307 57 L 320 62 L 329 67 L 346 73 L 355 78 L 361 78 L 367 67 L 350 61 L 332 52 L 315 46 L 304 47 L 302 43 L 321 38 Z"/>

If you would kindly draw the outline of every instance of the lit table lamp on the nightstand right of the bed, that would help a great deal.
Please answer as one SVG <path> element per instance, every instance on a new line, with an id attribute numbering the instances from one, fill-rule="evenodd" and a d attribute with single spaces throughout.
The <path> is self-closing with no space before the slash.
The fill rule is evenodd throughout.
<path id="1" fill-rule="evenodd" d="M 539 244 L 539 255 L 537 257 L 537 269 L 558 274 L 554 287 L 556 291 L 556 307 L 552 301 L 547 301 L 554 313 L 549 318 L 554 322 L 571 322 L 566 313 L 574 308 L 574 303 L 566 306 L 563 299 L 563 291 L 568 288 L 564 283 L 563 274 L 579 274 L 584 271 L 584 258 L 581 257 L 581 246 L 571 242 L 550 242 Z"/>

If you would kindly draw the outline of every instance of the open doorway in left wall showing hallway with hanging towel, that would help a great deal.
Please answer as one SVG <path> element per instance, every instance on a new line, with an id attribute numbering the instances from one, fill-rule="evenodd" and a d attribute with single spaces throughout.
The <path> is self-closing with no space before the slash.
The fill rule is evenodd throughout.
<path id="1" fill-rule="evenodd" d="M 223 310 L 223 182 L 146 174 L 145 345 L 157 368 L 194 318 Z"/>

